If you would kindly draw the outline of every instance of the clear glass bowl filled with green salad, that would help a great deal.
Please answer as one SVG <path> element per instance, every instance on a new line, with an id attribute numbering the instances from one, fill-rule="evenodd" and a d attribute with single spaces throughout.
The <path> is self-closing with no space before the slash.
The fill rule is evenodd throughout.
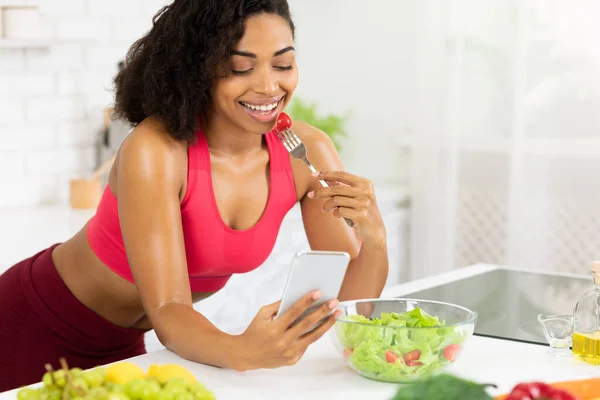
<path id="1" fill-rule="evenodd" d="M 408 383 L 446 369 L 473 335 L 477 313 L 459 305 L 413 299 L 339 304 L 336 347 L 358 374 Z"/>

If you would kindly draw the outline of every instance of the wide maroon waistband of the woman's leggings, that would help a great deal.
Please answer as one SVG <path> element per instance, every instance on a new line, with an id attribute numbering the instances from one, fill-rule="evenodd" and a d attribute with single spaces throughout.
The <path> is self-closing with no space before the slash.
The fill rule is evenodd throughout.
<path id="1" fill-rule="evenodd" d="M 143 340 L 146 331 L 122 328 L 81 303 L 65 285 L 52 261 L 58 244 L 39 252 L 21 270 L 21 285 L 32 309 L 57 335 L 87 354 L 106 356 Z"/>

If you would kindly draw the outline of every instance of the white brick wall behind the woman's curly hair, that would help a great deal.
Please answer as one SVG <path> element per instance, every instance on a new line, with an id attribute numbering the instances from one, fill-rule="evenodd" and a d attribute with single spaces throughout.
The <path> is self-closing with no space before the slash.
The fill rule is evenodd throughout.
<path id="1" fill-rule="evenodd" d="M 66 202 L 95 167 L 117 63 L 166 0 L 0 0 L 39 4 L 47 49 L 0 49 L 0 207 Z"/>

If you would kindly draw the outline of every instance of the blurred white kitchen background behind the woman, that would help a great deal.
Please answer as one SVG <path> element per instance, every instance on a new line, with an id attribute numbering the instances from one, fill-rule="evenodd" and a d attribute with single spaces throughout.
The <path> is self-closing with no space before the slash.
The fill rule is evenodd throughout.
<path id="1" fill-rule="evenodd" d="M 69 207 L 69 181 L 126 135 L 105 121 L 111 79 L 164 3 L 0 0 L 0 271 L 93 214 Z M 341 154 L 377 186 L 388 285 L 475 263 L 587 273 L 600 259 L 600 3 L 290 5 L 297 96 L 349 113 Z M 306 246 L 294 209 L 267 263 L 197 308 L 239 329 Z"/>

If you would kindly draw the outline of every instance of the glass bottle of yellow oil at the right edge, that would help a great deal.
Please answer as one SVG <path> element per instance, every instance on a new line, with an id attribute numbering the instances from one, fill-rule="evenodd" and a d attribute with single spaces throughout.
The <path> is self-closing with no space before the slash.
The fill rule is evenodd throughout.
<path id="1" fill-rule="evenodd" d="M 592 263 L 593 286 L 573 311 L 573 355 L 600 365 L 600 261 Z"/>

